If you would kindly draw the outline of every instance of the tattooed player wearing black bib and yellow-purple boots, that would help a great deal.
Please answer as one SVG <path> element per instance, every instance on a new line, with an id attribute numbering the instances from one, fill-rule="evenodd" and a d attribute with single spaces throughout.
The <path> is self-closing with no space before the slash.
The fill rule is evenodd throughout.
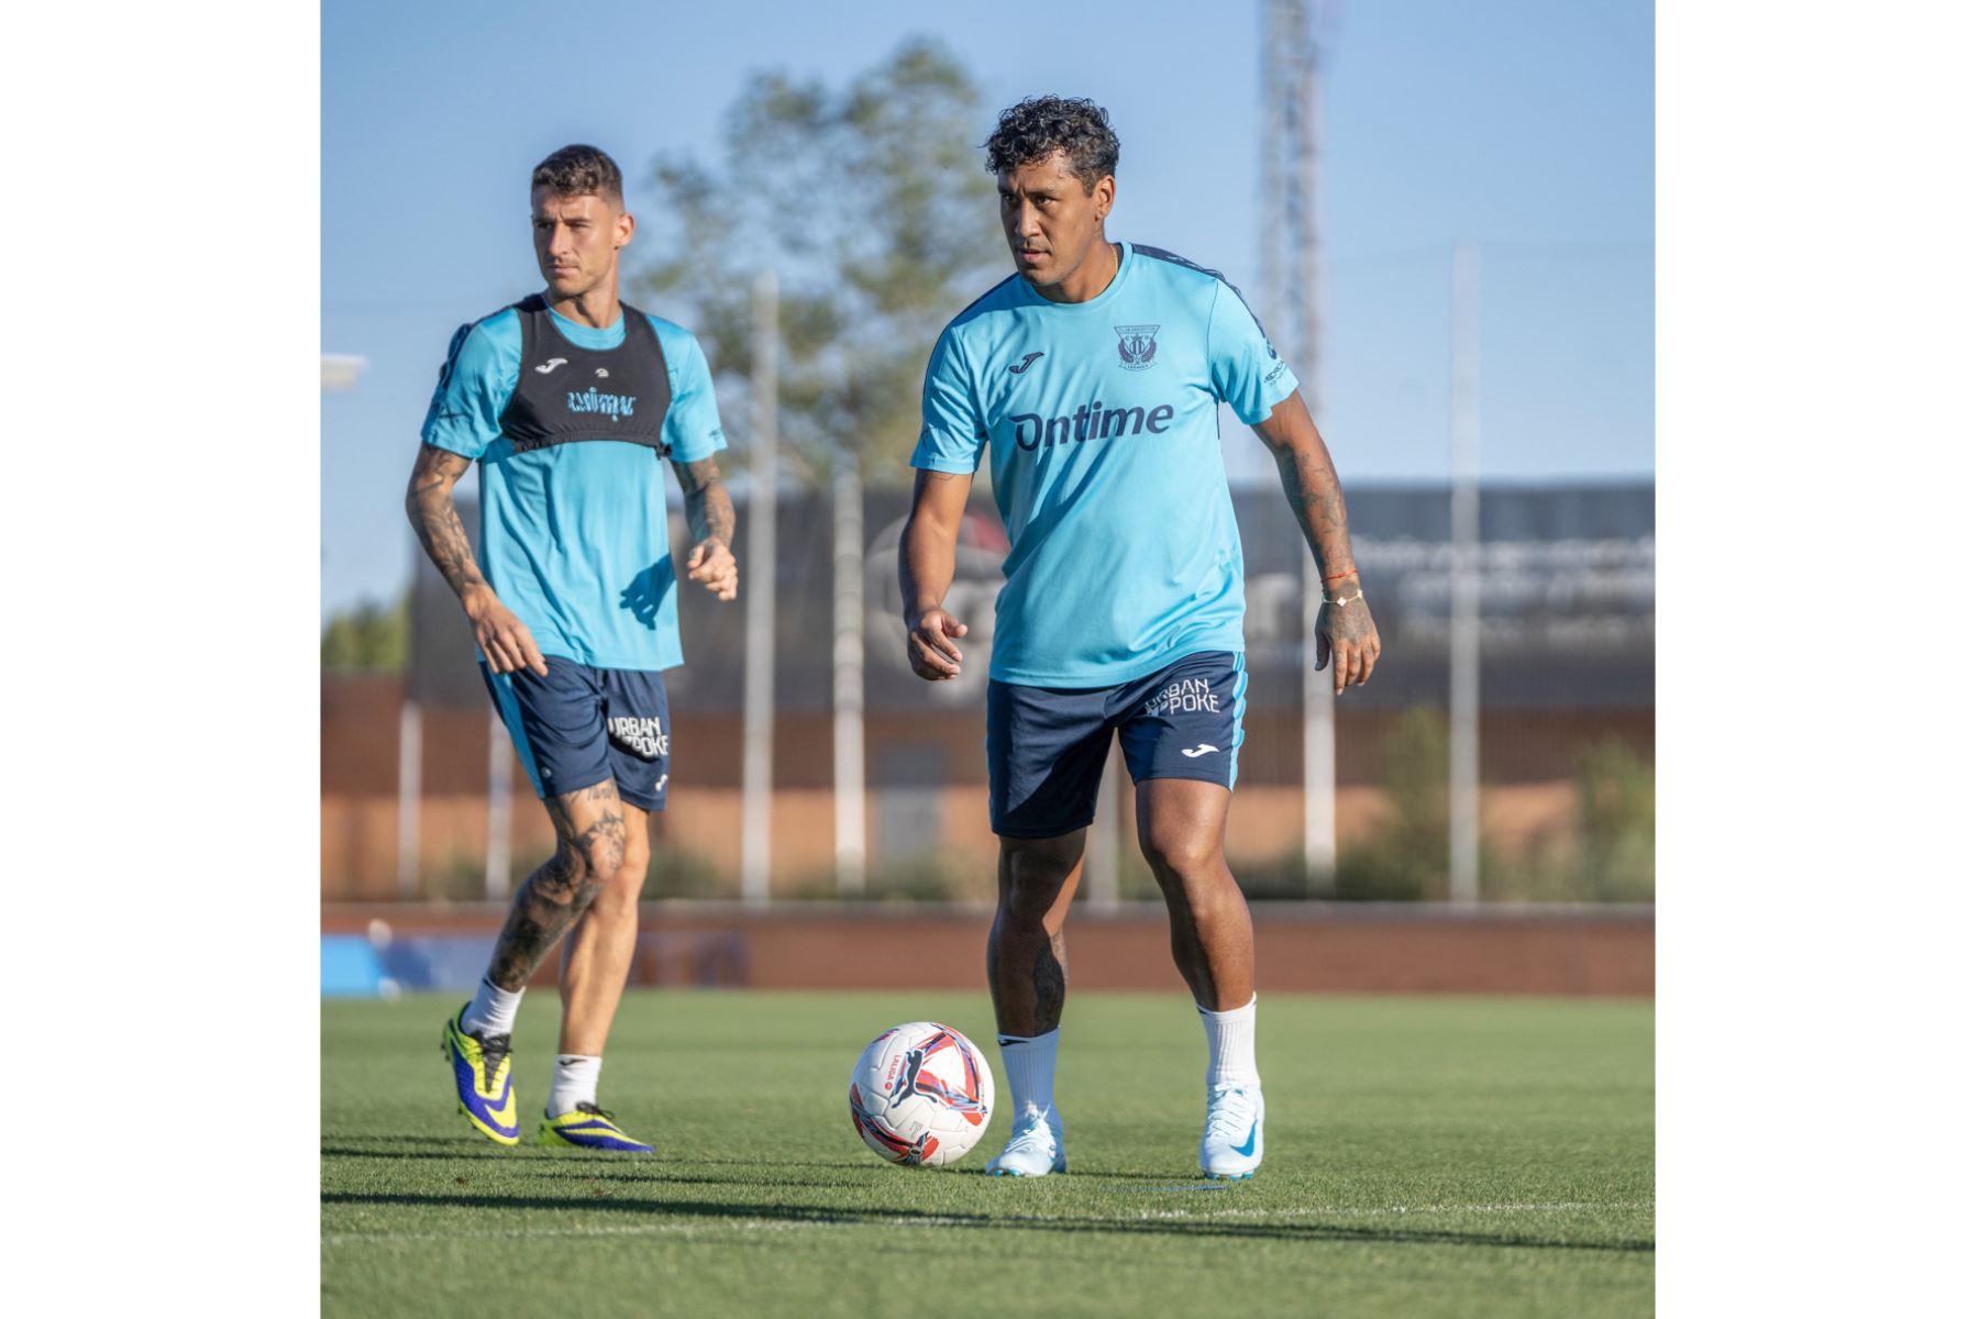
<path id="1" fill-rule="evenodd" d="M 633 235 L 621 176 L 566 146 L 530 176 L 542 293 L 461 326 L 425 413 L 406 514 L 461 597 L 481 676 L 556 827 L 441 1052 L 461 1113 L 520 1137 L 509 1038 L 530 973 L 568 933 L 564 1024 L 538 1143 L 651 1153 L 598 1107 L 606 1034 L 639 935 L 647 813 L 667 805 L 661 670 L 681 662 L 665 469 L 687 502 L 687 577 L 736 597 L 726 447 L 695 336 L 619 303 Z M 481 465 L 481 554 L 453 483 Z"/>

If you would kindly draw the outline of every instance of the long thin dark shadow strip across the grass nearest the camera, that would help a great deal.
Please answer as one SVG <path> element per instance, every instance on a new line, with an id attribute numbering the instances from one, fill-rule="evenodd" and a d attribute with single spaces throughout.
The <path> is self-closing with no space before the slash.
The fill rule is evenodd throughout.
<path id="1" fill-rule="evenodd" d="M 1203 1240 L 1271 1240 L 1271 1242 L 1383 1242 L 1393 1246 L 1492 1246 L 1504 1250 L 1591 1250 L 1603 1254 L 1652 1254 L 1654 1242 L 1567 1242 L 1559 1238 L 1518 1236 L 1508 1232 L 1449 1232 L 1439 1228 L 1401 1232 L 1395 1228 L 1358 1228 L 1332 1222 L 1229 1222 L 1187 1218 L 1092 1218 L 1092 1216 L 999 1216 L 964 1212 L 924 1212 L 908 1208 L 843 1208 L 833 1204 L 714 1204 L 705 1200 L 602 1200 L 548 1198 L 517 1194 L 402 1194 L 370 1190 L 330 1190 L 325 1204 L 400 1204 L 408 1208 L 507 1208 L 507 1210 L 606 1210 L 612 1214 L 653 1220 L 707 1220 L 720 1226 L 724 1218 L 790 1222 L 803 1226 L 942 1226 L 999 1228 L 1031 1232 L 1094 1232 L 1118 1236 L 1193 1236 Z"/>

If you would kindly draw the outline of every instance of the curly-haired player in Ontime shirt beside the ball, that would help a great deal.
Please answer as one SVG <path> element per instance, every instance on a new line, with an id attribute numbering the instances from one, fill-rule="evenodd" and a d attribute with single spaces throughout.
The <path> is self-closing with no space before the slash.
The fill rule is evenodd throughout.
<path id="1" fill-rule="evenodd" d="M 1140 850 L 1209 1036 L 1199 1163 L 1211 1177 L 1251 1177 L 1265 1157 L 1251 912 L 1223 862 L 1243 746 L 1243 550 L 1219 403 L 1271 449 L 1320 566 L 1316 662 L 1334 664 L 1336 694 L 1367 680 L 1381 643 L 1340 483 L 1290 366 L 1219 273 L 1108 241 L 1120 140 L 1106 111 L 1021 101 L 986 148 L 1017 273 L 964 308 L 928 362 L 900 591 L 914 672 L 956 678 L 968 629 L 942 597 L 988 453 L 1011 544 L 988 755 L 1001 844 L 990 997 L 1013 1113 L 988 1171 L 1065 1171 L 1053 1101 L 1063 925 L 1118 736 Z"/>

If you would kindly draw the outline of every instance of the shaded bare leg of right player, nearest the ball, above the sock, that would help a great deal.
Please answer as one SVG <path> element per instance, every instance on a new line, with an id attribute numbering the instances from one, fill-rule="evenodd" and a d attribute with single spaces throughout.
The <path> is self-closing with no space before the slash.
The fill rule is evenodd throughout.
<path id="1" fill-rule="evenodd" d="M 990 1001 L 1001 1034 L 1037 1036 L 1057 1030 L 1065 1011 L 1065 912 L 1079 892 L 1086 831 L 1001 842 Z"/>

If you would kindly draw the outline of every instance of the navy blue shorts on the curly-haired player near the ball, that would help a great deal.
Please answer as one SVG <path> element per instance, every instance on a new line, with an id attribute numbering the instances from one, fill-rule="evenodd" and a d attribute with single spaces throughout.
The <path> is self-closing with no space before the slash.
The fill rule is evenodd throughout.
<path id="1" fill-rule="evenodd" d="M 1136 783 L 1237 787 L 1243 655 L 1205 651 L 1120 686 L 990 680 L 990 829 L 1057 838 L 1092 823 L 1114 732 Z"/>

